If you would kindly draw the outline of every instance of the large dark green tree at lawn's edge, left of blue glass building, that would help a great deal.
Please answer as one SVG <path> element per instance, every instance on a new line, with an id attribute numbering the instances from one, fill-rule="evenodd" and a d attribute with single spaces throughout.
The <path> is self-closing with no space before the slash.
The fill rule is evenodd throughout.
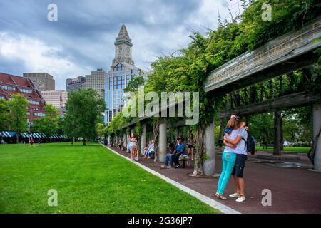
<path id="1" fill-rule="evenodd" d="M 83 145 L 86 139 L 97 138 L 96 126 L 105 107 L 103 98 L 92 88 L 69 93 L 64 120 L 66 135 L 83 138 Z"/>

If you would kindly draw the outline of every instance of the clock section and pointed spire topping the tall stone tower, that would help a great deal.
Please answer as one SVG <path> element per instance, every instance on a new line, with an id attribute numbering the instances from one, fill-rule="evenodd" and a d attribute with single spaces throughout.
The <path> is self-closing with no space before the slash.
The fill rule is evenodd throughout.
<path id="1" fill-rule="evenodd" d="M 122 62 L 134 65 L 133 58 L 131 56 L 132 47 L 133 43 L 131 43 L 131 38 L 129 38 L 126 26 L 123 24 L 115 41 L 115 58 L 113 59 L 113 66 Z"/>

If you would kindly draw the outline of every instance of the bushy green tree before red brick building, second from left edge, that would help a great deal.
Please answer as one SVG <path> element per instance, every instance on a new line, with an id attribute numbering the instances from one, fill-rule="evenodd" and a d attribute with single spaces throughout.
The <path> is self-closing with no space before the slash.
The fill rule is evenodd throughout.
<path id="1" fill-rule="evenodd" d="M 9 110 L 11 114 L 11 130 L 16 131 L 16 142 L 19 143 L 19 134 L 28 129 L 27 108 L 28 100 L 20 93 L 11 96 L 9 100 Z"/>

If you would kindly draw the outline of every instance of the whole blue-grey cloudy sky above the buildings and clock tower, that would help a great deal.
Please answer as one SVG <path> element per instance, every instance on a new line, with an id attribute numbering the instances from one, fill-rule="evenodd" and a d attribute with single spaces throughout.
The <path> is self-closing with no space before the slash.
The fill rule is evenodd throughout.
<path id="1" fill-rule="evenodd" d="M 58 21 L 47 19 L 52 3 Z M 109 70 L 123 23 L 136 66 L 148 71 L 158 56 L 185 47 L 192 31 L 215 29 L 219 14 L 230 20 L 228 8 L 238 14 L 240 0 L 0 0 L 0 72 L 50 73 L 66 90 L 66 78 Z"/>

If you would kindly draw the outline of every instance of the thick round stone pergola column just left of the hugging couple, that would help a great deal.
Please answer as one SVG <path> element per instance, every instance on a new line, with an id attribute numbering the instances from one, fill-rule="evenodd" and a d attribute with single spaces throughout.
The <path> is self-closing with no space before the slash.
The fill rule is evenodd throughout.
<path id="1" fill-rule="evenodd" d="M 204 161 L 204 174 L 214 175 L 215 173 L 215 124 L 214 121 L 205 129 L 204 147 L 207 159 Z"/>

